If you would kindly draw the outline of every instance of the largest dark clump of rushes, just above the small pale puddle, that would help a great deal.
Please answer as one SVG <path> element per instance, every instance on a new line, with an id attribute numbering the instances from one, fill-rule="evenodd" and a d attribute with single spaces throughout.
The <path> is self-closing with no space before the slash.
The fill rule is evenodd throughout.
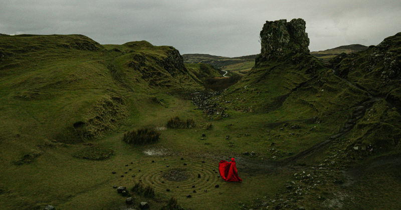
<path id="1" fill-rule="evenodd" d="M 122 140 L 129 144 L 146 144 L 159 140 L 161 133 L 154 129 L 141 128 L 124 133 Z"/>

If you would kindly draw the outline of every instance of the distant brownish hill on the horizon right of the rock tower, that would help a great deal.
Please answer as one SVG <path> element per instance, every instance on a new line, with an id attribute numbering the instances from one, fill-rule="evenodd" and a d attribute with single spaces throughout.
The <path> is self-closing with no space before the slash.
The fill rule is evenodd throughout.
<path id="1" fill-rule="evenodd" d="M 367 48 L 368 48 L 368 46 L 365 46 L 362 44 L 350 44 L 350 45 L 338 46 L 338 47 L 335 47 L 332 49 L 314 51 L 314 52 L 310 52 L 310 54 L 323 61 L 327 61 L 343 52 L 349 54 L 349 53 L 365 50 Z"/>

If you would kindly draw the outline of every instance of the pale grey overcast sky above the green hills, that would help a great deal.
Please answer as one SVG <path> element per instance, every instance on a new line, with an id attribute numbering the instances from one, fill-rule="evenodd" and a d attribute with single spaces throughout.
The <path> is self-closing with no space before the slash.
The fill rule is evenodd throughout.
<path id="1" fill-rule="evenodd" d="M 401 32 L 401 0 L 1 0 L 0 33 L 147 40 L 181 54 L 260 53 L 266 20 L 303 18 L 311 51 L 377 45 Z"/>

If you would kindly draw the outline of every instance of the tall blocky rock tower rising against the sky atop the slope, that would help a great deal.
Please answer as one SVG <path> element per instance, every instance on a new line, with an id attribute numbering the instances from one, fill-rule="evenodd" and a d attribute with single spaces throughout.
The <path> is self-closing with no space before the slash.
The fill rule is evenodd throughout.
<path id="1" fill-rule="evenodd" d="M 305 20 L 298 18 L 266 21 L 260 31 L 261 53 L 256 62 L 281 60 L 297 53 L 309 53 L 309 38 L 305 32 Z"/>

